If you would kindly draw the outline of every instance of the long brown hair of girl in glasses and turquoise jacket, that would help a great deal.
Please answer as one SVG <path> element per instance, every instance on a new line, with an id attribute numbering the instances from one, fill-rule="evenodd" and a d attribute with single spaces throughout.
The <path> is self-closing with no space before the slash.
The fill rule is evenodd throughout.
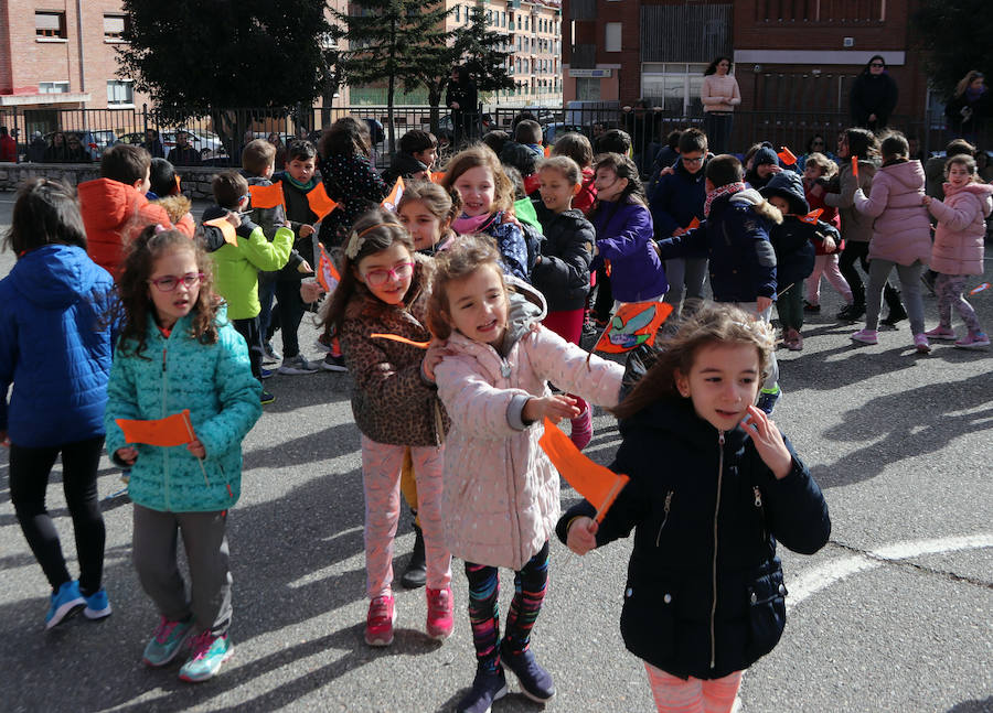
<path id="1" fill-rule="evenodd" d="M 189 336 L 201 344 L 217 342 L 217 309 L 221 304 L 215 299 L 213 264 L 203 245 L 191 240 L 179 230 L 163 230 L 161 226 L 150 225 L 131 241 L 117 280 L 117 294 L 120 300 L 122 327 L 118 352 L 132 354 L 142 359 L 147 348 L 149 316 L 154 320 L 154 305 L 149 296 L 148 279 L 154 271 L 156 261 L 173 250 L 190 250 L 196 259 L 196 269 L 203 273 L 200 282 L 200 294 L 190 311 L 191 324 Z M 134 347 L 132 347 L 134 345 Z"/>

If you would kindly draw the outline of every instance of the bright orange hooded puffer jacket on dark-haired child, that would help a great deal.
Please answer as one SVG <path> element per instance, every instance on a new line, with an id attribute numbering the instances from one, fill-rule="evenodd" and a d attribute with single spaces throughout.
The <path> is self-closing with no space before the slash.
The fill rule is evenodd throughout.
<path id="1" fill-rule="evenodd" d="M 135 186 L 97 179 L 81 183 L 79 214 L 86 228 L 86 251 L 93 261 L 117 276 L 125 246 L 148 225 L 172 227 L 166 209 L 149 203 Z M 182 220 L 177 229 L 193 237 L 193 222 Z"/>

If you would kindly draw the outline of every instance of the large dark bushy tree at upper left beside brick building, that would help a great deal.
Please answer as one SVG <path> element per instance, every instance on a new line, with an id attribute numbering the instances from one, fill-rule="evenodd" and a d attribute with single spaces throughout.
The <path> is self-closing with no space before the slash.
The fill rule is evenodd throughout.
<path id="1" fill-rule="evenodd" d="M 317 97 L 329 75 L 324 0 L 124 0 L 129 23 L 118 76 L 148 94 L 160 118 L 212 116 L 236 148 L 242 107 L 280 109 Z M 225 143 L 228 141 L 225 140 Z"/>

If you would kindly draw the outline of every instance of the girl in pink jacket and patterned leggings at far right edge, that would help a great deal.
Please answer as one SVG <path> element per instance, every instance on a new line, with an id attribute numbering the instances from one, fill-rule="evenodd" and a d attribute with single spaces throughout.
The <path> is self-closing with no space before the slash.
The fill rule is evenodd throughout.
<path id="1" fill-rule="evenodd" d="M 935 291 L 938 293 L 938 326 L 925 335 L 930 339 L 955 339 L 951 328 L 952 305 L 959 311 L 968 334 L 955 339 L 955 346 L 975 349 L 990 346 L 990 337 L 983 332 L 972 305 L 965 301 L 965 280 L 970 274 L 983 273 L 983 239 L 985 219 L 993 210 L 993 186 L 976 182 L 975 160 L 957 155 L 946 164 L 948 183 L 944 201 L 925 196 L 923 204 L 938 219 L 935 245 L 931 247 L 931 269 L 938 273 Z"/>

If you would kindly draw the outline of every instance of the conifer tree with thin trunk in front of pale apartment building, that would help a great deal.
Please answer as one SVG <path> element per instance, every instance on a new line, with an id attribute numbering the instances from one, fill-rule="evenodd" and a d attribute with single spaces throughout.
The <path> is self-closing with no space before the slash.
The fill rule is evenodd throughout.
<path id="1" fill-rule="evenodd" d="M 423 68 L 446 62 L 450 33 L 444 0 L 362 0 L 356 14 L 332 11 L 340 26 L 332 30 L 348 50 L 337 68 L 350 85 L 386 83 L 389 145 L 396 132 L 393 106 L 397 86 L 406 90 L 421 83 Z"/>

